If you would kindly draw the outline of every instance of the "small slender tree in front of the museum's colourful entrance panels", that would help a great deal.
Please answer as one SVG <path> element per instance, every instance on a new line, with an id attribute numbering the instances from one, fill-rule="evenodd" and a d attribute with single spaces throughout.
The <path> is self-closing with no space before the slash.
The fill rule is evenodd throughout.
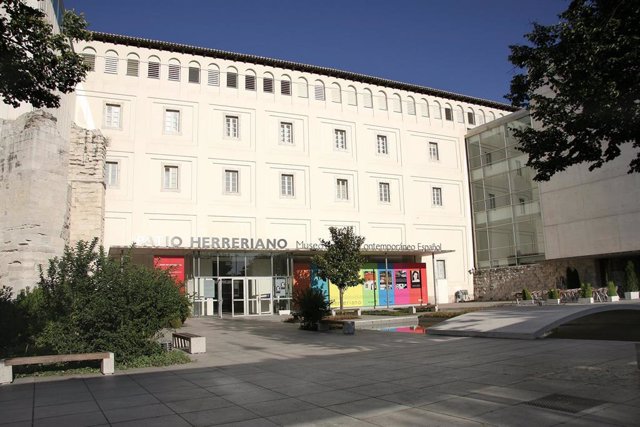
<path id="1" fill-rule="evenodd" d="M 320 239 L 325 251 L 313 257 L 318 276 L 329 280 L 340 290 L 340 311 L 343 309 L 344 291 L 362 283 L 360 268 L 364 256 L 360 247 L 365 238 L 353 232 L 353 227 L 329 227 L 331 240 Z"/>

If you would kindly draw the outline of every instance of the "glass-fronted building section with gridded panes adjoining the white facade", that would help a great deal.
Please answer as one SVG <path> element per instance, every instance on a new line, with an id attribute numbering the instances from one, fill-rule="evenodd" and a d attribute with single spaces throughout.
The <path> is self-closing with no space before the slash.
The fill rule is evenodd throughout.
<path id="1" fill-rule="evenodd" d="M 466 137 L 476 268 L 545 259 L 534 171 L 518 151 L 514 129 L 531 126 L 520 111 L 471 130 Z"/>

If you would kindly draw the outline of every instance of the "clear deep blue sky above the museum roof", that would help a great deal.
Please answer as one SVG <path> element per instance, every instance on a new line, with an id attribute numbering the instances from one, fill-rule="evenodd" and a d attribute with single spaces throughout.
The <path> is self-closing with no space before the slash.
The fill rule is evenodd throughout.
<path id="1" fill-rule="evenodd" d="M 506 102 L 510 44 L 565 0 L 65 0 L 89 28 Z"/>

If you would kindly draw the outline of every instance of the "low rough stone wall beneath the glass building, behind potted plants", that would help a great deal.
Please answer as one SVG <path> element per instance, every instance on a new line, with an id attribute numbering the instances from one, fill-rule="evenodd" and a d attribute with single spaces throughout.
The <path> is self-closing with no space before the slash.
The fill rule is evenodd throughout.
<path id="1" fill-rule="evenodd" d="M 567 267 L 578 270 L 580 280 L 601 285 L 594 259 L 543 261 L 539 264 L 477 270 L 473 274 L 474 296 L 477 300 L 512 300 L 523 288 L 530 291 L 565 288 Z"/>

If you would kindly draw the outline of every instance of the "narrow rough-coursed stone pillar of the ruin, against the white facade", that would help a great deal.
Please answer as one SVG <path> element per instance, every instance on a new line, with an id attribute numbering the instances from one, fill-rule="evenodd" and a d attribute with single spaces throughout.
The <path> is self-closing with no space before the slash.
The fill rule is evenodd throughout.
<path id="1" fill-rule="evenodd" d="M 98 131 L 71 126 L 69 243 L 104 237 L 104 162 L 107 144 Z"/>

